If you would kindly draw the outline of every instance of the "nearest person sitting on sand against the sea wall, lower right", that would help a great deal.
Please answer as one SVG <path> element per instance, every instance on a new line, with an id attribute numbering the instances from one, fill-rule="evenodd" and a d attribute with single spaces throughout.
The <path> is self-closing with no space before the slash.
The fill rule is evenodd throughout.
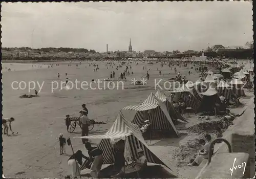
<path id="1" fill-rule="evenodd" d="M 209 153 L 209 143 L 206 143 L 205 140 L 200 139 L 199 144 L 203 149 L 199 150 L 195 159 L 190 159 L 188 166 L 199 166 L 203 159 L 208 159 Z"/>

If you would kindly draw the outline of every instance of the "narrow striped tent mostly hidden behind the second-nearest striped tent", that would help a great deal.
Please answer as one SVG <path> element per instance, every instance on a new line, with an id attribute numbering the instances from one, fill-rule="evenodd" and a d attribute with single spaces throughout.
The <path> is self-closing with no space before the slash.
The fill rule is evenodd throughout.
<path id="1" fill-rule="evenodd" d="M 169 112 L 169 115 L 170 115 L 170 117 L 172 117 L 172 119 L 180 119 L 180 120 L 182 120 L 182 121 L 187 122 L 187 121 L 183 118 L 183 116 L 180 114 L 180 112 L 177 111 L 177 110 L 175 110 L 173 104 L 172 104 L 170 101 L 167 100 L 167 97 L 164 95 L 163 92 L 160 91 L 160 89 L 157 90 L 155 96 L 156 96 L 159 100 L 161 100 L 162 102 L 164 102 L 164 104 L 165 104 L 165 106 L 166 106 L 166 108 L 167 108 L 167 110 L 168 110 L 168 112 Z"/>

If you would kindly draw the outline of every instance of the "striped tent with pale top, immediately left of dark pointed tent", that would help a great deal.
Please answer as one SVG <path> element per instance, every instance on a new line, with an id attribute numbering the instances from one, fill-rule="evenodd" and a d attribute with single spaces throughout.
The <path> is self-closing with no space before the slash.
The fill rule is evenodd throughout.
<path id="1" fill-rule="evenodd" d="M 173 101 L 179 102 L 180 99 L 183 99 L 185 102 L 185 107 L 191 107 L 195 110 L 200 104 L 200 101 L 193 93 L 193 89 L 187 88 L 186 85 L 182 85 L 180 88 L 175 89 L 171 93 L 174 93 Z"/>

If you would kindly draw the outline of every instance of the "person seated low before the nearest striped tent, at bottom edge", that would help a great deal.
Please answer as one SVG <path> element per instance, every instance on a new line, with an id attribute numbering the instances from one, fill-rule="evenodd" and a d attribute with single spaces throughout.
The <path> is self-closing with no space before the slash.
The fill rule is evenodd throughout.
<path id="1" fill-rule="evenodd" d="M 141 148 L 137 149 L 137 154 L 138 154 L 138 159 L 135 162 L 133 162 L 130 165 L 123 166 L 119 173 L 111 177 L 121 178 L 124 176 L 124 172 L 125 173 L 132 173 L 132 172 L 141 173 L 143 169 L 145 169 L 145 167 L 147 166 L 147 160 L 144 155 L 144 151 Z"/>

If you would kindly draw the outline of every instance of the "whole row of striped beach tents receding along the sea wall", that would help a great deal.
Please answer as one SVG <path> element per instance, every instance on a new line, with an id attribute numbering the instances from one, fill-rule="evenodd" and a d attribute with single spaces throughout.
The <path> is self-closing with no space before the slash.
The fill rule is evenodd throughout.
<path id="1" fill-rule="evenodd" d="M 169 169 L 169 175 L 167 177 L 177 177 L 177 174 L 149 149 L 140 128 L 143 126 L 145 120 L 149 120 L 151 122 L 150 140 L 154 138 L 153 133 L 158 137 L 159 135 L 179 137 L 174 122 L 179 120 L 186 123 L 187 121 L 175 109 L 173 103 L 178 102 L 179 99 L 183 99 L 185 107 L 190 107 L 196 113 L 199 113 L 200 111 L 210 110 L 209 106 L 220 103 L 220 95 L 225 96 L 226 99 L 230 99 L 232 94 L 244 96 L 245 93 L 242 86 L 244 82 L 248 81 L 247 73 L 244 73 L 242 70 L 236 72 L 234 69 L 239 68 L 231 69 L 233 72 L 224 69 L 222 75 L 215 75 L 209 72 L 205 80 L 198 79 L 193 84 L 185 84 L 173 92 L 167 92 L 174 95 L 172 100 L 169 100 L 164 92 L 160 90 L 155 94 L 151 93 L 142 104 L 122 108 L 122 110 L 136 111 L 135 117 L 131 122 L 125 119 L 120 110 L 116 121 L 104 135 L 77 138 L 101 139 L 97 147 L 103 151 L 103 164 L 113 164 L 115 162 L 114 145 L 118 141 L 123 140 L 125 148 L 124 156 L 127 162 L 135 161 L 138 157 L 137 150 L 142 149 L 149 163 L 164 165 Z M 230 76 L 224 75 L 225 73 L 230 73 Z M 252 75 L 251 73 L 249 74 Z M 230 81 L 223 80 L 223 78 L 229 77 L 233 79 Z M 219 79 L 220 81 L 218 81 Z M 202 84 L 206 85 L 206 88 L 202 89 Z M 233 88 L 232 85 L 236 85 L 236 88 Z M 80 170 L 84 168 L 85 166 L 83 165 Z"/>

